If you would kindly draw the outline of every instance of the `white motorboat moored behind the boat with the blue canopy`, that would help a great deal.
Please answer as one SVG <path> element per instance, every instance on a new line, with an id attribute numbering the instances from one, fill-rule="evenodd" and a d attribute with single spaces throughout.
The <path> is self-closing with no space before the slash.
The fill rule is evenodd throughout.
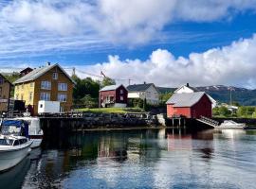
<path id="1" fill-rule="evenodd" d="M 40 119 L 39 117 L 19 117 L 15 118 L 17 120 L 25 120 L 28 124 L 28 137 L 33 144 L 31 148 L 41 146 L 43 141 L 44 132 L 43 129 L 40 128 Z"/>

